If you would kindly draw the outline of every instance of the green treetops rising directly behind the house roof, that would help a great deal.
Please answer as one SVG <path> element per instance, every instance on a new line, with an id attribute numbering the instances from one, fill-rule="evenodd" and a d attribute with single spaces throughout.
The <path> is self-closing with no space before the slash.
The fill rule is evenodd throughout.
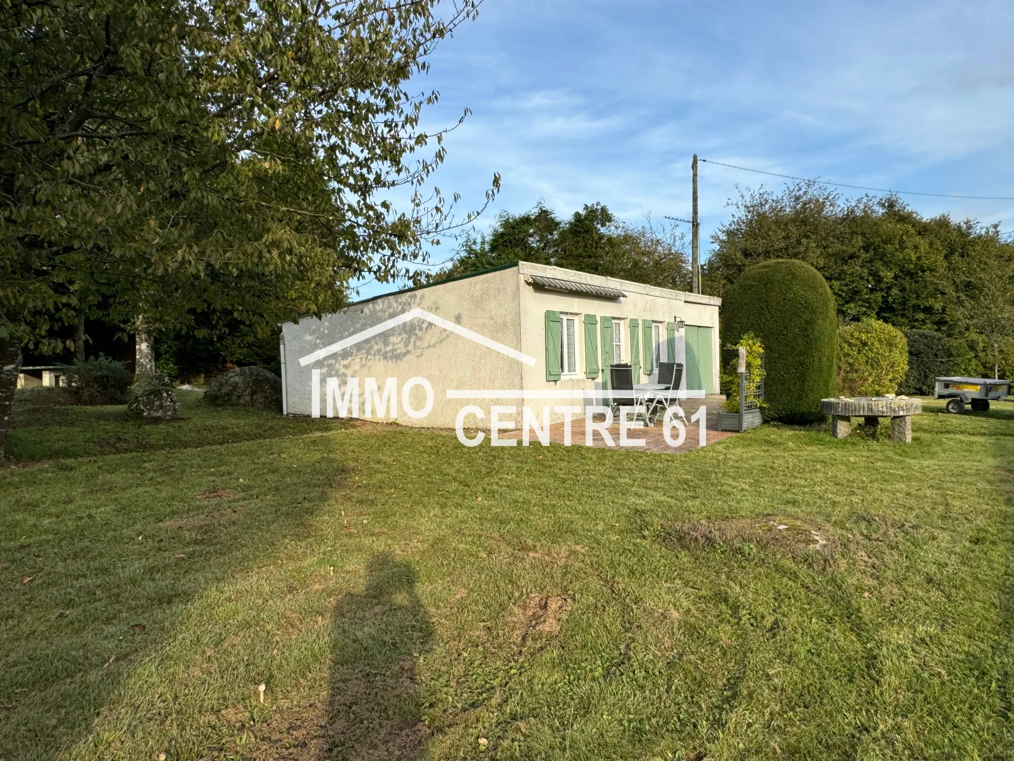
<path id="1" fill-rule="evenodd" d="M 465 237 L 443 280 L 524 261 L 686 290 L 685 240 L 675 226 L 625 224 L 602 204 L 586 204 L 561 220 L 541 204 L 524 214 L 501 213 L 489 235 Z"/>

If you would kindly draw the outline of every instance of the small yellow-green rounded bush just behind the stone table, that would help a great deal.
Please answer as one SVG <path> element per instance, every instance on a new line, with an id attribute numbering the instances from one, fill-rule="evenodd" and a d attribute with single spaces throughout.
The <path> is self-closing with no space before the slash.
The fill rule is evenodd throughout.
<path id="1" fill-rule="evenodd" d="M 909 342 L 879 320 L 843 325 L 838 331 L 838 390 L 850 397 L 895 394 L 909 370 Z"/>

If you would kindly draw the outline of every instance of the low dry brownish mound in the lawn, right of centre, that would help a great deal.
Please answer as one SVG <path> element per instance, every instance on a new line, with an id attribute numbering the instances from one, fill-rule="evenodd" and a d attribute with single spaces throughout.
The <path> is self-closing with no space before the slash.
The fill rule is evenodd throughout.
<path id="1" fill-rule="evenodd" d="M 711 549 L 752 544 L 787 554 L 807 551 L 834 553 L 839 549 L 830 528 L 810 518 L 787 515 L 699 521 L 694 524 L 663 526 L 662 544 L 679 549 Z"/>

